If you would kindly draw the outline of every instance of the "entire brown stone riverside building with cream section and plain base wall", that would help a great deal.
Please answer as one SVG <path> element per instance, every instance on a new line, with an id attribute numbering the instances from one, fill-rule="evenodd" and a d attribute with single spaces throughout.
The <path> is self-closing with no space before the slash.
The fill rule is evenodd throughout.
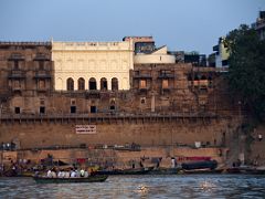
<path id="1" fill-rule="evenodd" d="M 216 69 L 134 57 L 131 41 L 0 43 L 0 140 L 21 148 L 222 143 L 230 106 Z M 78 126 L 96 130 L 81 135 Z"/>

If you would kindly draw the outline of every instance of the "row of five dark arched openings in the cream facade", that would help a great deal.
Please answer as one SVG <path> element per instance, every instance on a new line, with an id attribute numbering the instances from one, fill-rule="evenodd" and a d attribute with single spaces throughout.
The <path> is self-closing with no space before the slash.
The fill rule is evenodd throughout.
<path id="1" fill-rule="evenodd" d="M 68 77 L 66 81 L 66 90 L 67 91 L 74 91 L 74 80 L 72 77 Z M 100 90 L 106 91 L 107 90 L 107 78 L 103 77 L 100 78 Z M 77 83 L 77 88 L 78 91 L 84 91 L 85 90 L 85 80 L 83 77 L 78 78 Z M 97 83 L 96 78 L 92 77 L 88 81 L 88 90 L 97 90 Z M 118 90 L 118 78 L 114 77 L 112 78 L 112 91 Z"/>

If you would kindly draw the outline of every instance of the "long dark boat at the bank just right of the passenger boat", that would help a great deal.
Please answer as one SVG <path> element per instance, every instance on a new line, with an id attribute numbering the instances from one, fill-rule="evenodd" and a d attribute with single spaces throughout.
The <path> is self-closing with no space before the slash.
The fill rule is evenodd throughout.
<path id="1" fill-rule="evenodd" d="M 134 168 L 134 169 L 97 170 L 96 175 L 146 175 L 152 169 L 153 167 Z"/>

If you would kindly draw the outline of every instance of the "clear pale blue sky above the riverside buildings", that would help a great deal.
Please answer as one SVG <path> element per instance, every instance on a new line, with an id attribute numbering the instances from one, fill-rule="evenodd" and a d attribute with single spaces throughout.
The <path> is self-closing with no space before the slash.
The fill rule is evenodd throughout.
<path id="1" fill-rule="evenodd" d="M 265 0 L 0 0 L 0 41 L 121 41 L 212 53 L 219 38 L 251 24 Z"/>

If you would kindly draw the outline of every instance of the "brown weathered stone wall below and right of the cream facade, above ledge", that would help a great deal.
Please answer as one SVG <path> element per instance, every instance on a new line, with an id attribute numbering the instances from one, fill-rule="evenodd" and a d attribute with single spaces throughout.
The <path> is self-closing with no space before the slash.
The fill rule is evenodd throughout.
<path id="1" fill-rule="evenodd" d="M 206 75 L 213 69 L 204 69 Z M 210 71 L 210 72 L 209 72 Z M 45 107 L 44 114 L 70 114 L 74 106 L 74 114 L 87 114 L 92 106 L 96 113 L 205 113 L 231 111 L 227 92 L 222 87 L 219 77 L 211 80 L 189 80 L 193 74 L 192 67 L 187 64 L 168 65 L 136 65 L 131 72 L 130 91 L 68 91 L 68 92 L 36 92 L 33 94 L 13 95 L 9 103 L 2 103 L 2 109 L 13 113 L 20 107 L 22 114 L 40 114 L 40 106 Z M 218 74 L 215 74 L 218 75 Z M 30 76 L 29 76 L 30 78 Z M 209 77 L 210 78 L 210 77 Z M 33 80 L 33 78 L 32 78 Z M 141 87 L 141 82 L 146 86 Z M 165 81 L 167 82 L 165 85 Z M 206 81 L 206 82 L 205 82 Z M 199 82 L 199 83 L 198 83 Z M 211 83 L 211 84 L 210 84 Z M 194 85 L 195 84 L 195 85 Z M 38 90 L 36 90 L 38 91 Z M 225 102 L 227 102 L 225 104 Z M 42 104 L 41 104 L 42 103 Z M 230 113 L 229 113 L 230 114 Z M 4 115 L 4 114 L 3 114 Z"/>

